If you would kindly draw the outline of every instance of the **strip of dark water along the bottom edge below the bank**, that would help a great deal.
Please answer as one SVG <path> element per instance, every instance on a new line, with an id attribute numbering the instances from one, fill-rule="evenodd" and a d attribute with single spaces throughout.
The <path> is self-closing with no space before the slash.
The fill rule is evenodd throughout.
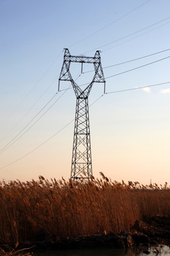
<path id="1" fill-rule="evenodd" d="M 33 253 L 35 256 L 170 256 L 170 248 L 151 247 L 149 254 L 145 252 L 125 252 L 123 249 L 87 249 L 87 250 L 39 250 Z"/>

